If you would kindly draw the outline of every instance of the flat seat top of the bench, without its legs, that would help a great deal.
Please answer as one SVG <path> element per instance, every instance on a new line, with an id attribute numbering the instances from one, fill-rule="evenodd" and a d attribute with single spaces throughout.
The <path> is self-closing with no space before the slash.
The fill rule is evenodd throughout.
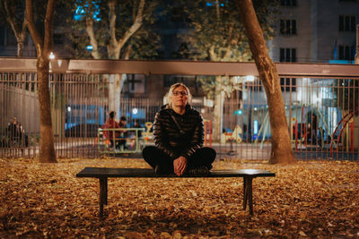
<path id="1" fill-rule="evenodd" d="M 181 175 L 180 177 L 243 177 L 276 176 L 263 169 L 212 170 L 208 175 Z M 151 168 L 85 167 L 76 177 L 179 177 L 156 175 Z"/>

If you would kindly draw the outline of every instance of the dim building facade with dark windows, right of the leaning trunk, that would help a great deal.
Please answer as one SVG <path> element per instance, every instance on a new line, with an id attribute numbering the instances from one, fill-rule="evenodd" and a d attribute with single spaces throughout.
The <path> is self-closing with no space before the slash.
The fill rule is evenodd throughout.
<path id="1" fill-rule="evenodd" d="M 276 37 L 268 43 L 275 62 L 354 61 L 359 1 L 281 0 L 280 4 Z"/>

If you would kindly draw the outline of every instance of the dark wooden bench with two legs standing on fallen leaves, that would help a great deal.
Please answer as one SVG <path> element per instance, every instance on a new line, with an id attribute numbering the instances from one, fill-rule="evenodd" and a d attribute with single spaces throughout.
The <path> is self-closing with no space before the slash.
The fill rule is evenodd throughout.
<path id="1" fill-rule="evenodd" d="M 103 205 L 107 205 L 109 177 L 243 177 L 243 210 L 250 208 L 253 215 L 252 180 L 255 177 L 276 176 L 262 169 L 213 170 L 209 175 L 156 175 L 151 168 L 109 168 L 85 167 L 76 177 L 94 177 L 100 179 L 100 217 L 103 217 Z"/>

